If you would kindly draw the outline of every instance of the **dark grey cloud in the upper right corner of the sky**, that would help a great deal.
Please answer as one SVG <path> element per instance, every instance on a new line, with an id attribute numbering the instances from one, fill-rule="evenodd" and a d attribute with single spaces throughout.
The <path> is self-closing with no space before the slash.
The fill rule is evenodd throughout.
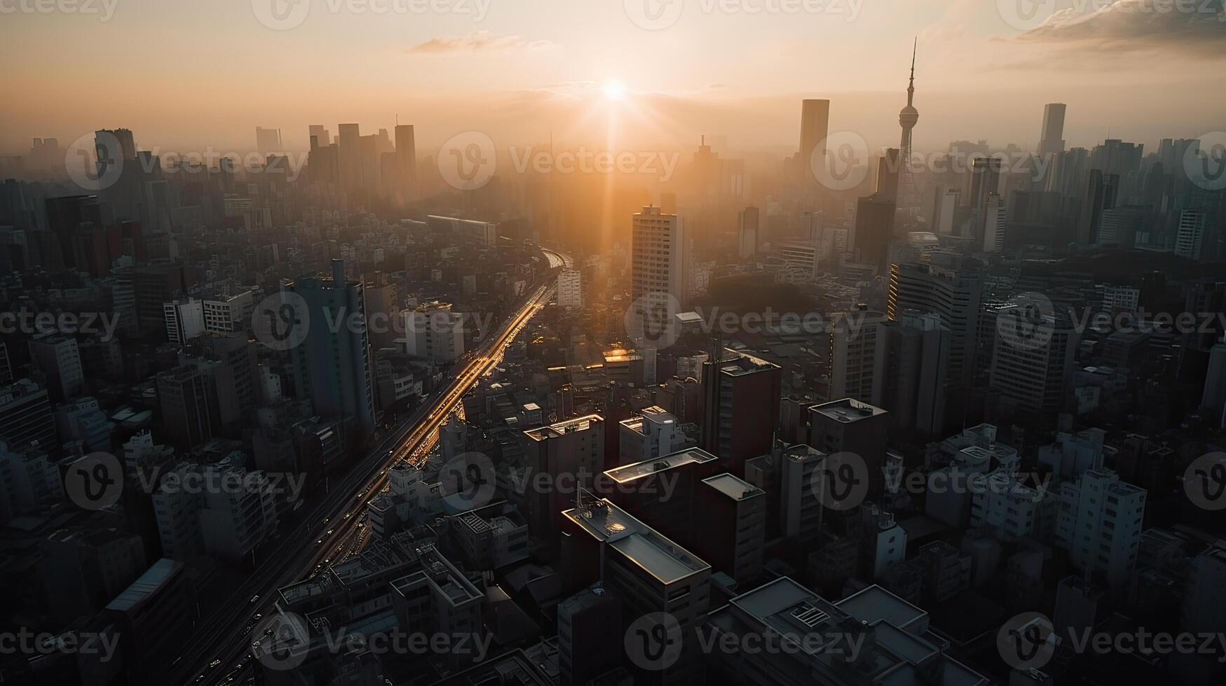
<path id="1" fill-rule="evenodd" d="M 1221 56 L 1224 0 L 1116 0 L 1096 11 L 1090 1 L 1060 10 L 1011 42 L 1069 50 L 1112 50 Z"/>

